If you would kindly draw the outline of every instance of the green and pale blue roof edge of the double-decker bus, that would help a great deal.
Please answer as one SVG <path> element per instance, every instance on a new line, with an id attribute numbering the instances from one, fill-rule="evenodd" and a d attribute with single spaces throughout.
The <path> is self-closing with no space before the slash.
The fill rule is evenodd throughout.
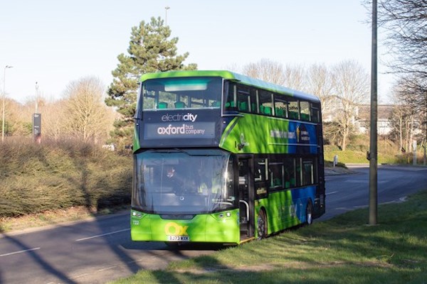
<path id="1" fill-rule="evenodd" d="M 312 94 L 305 94 L 295 89 L 289 89 L 287 87 L 280 86 L 278 84 L 273 84 L 251 78 L 245 75 L 241 75 L 231 71 L 225 70 L 191 70 L 191 71 L 168 71 L 168 72 L 154 72 L 147 73 L 141 76 L 141 82 L 150 79 L 159 79 L 159 78 L 173 78 L 173 77 L 222 77 L 226 80 L 234 80 L 241 82 L 252 87 L 260 87 L 262 89 L 268 89 L 271 92 L 278 92 L 280 94 L 286 94 L 291 97 L 298 97 L 301 99 L 307 99 L 312 102 L 320 102 L 320 99 Z"/>

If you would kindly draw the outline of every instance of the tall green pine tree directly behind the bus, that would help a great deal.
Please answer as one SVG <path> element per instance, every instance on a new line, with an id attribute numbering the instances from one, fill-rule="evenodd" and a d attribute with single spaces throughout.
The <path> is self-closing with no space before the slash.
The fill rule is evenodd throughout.
<path id="1" fill-rule="evenodd" d="M 176 54 L 178 38 L 171 38 L 171 29 L 164 26 L 162 18 L 151 18 L 150 23 L 142 21 L 132 27 L 129 55 L 117 56 L 119 63 L 112 71 L 112 84 L 107 91 L 105 103 L 116 107 L 122 119 L 115 121 L 112 134 L 116 142 L 128 145 L 132 141 L 132 117 L 135 115 L 137 89 L 141 75 L 149 72 L 169 70 L 196 70 L 197 65 L 184 65 L 189 53 Z"/>

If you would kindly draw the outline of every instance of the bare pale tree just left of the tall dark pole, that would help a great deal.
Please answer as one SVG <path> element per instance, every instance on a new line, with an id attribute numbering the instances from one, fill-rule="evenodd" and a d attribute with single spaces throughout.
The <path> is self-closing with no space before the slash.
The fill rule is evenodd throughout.
<path id="1" fill-rule="evenodd" d="M 332 69 L 332 87 L 341 148 L 345 151 L 356 108 L 369 94 L 369 75 L 357 62 L 339 62 Z"/>

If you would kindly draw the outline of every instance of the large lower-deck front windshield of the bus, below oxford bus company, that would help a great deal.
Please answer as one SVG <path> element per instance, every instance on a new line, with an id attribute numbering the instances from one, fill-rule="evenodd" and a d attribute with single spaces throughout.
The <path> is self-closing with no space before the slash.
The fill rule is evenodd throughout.
<path id="1" fill-rule="evenodd" d="M 221 150 L 146 151 L 135 158 L 132 207 L 201 214 L 238 206 L 231 155 Z"/>

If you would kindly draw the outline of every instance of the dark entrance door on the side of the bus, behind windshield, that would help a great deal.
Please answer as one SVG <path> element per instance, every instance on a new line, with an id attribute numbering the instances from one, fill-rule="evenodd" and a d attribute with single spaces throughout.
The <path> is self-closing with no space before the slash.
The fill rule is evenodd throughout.
<path id="1" fill-rule="evenodd" d="M 238 158 L 238 198 L 241 239 L 251 238 L 255 228 L 253 159 Z"/>

